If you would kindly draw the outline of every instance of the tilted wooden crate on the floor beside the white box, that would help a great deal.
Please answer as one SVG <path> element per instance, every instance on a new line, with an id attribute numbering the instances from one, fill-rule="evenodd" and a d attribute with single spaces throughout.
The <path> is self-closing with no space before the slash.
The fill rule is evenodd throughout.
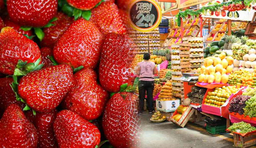
<path id="1" fill-rule="evenodd" d="M 173 123 L 177 124 L 178 126 L 184 128 L 184 126 L 188 123 L 188 120 L 192 117 L 194 112 L 195 112 L 195 109 L 192 109 L 192 107 L 188 107 L 188 109 L 186 109 L 186 111 L 182 114 L 182 116 L 178 122 L 176 120 L 174 120 L 173 118 L 171 118 L 171 121 Z M 177 110 L 174 112 L 173 116 L 176 113 L 177 113 Z"/>

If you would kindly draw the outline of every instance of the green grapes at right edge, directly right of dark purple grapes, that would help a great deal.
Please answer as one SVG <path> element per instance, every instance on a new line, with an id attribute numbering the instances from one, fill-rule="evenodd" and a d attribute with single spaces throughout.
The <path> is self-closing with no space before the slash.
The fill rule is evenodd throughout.
<path id="1" fill-rule="evenodd" d="M 251 97 L 246 101 L 244 107 L 244 114 L 247 116 L 256 117 L 256 97 Z"/>

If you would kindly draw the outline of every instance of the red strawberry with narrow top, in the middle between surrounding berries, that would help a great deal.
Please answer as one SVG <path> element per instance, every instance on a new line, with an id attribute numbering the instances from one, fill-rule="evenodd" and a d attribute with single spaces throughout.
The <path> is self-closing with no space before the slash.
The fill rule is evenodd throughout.
<path id="1" fill-rule="evenodd" d="M 65 106 L 86 120 L 98 118 L 106 105 L 108 93 L 97 84 L 96 72 L 82 69 L 74 75 L 74 79 L 76 84 L 65 98 Z"/>

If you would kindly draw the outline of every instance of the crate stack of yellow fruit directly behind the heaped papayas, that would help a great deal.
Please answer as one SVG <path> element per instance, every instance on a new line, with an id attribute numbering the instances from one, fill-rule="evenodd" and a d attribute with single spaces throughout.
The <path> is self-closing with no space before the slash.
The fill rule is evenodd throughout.
<path id="1" fill-rule="evenodd" d="M 190 44 L 190 67 L 192 73 L 196 73 L 196 69 L 201 67 L 204 62 L 204 44 L 202 37 L 188 38 Z"/>

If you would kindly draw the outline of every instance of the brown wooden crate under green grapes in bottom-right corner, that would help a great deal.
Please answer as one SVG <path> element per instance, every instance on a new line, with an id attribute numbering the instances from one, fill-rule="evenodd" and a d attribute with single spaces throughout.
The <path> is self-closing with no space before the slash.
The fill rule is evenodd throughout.
<path id="1" fill-rule="evenodd" d="M 245 136 L 241 136 L 239 134 L 233 133 L 234 137 L 234 146 L 238 148 L 248 148 L 256 144 L 256 134 L 248 134 Z"/>

